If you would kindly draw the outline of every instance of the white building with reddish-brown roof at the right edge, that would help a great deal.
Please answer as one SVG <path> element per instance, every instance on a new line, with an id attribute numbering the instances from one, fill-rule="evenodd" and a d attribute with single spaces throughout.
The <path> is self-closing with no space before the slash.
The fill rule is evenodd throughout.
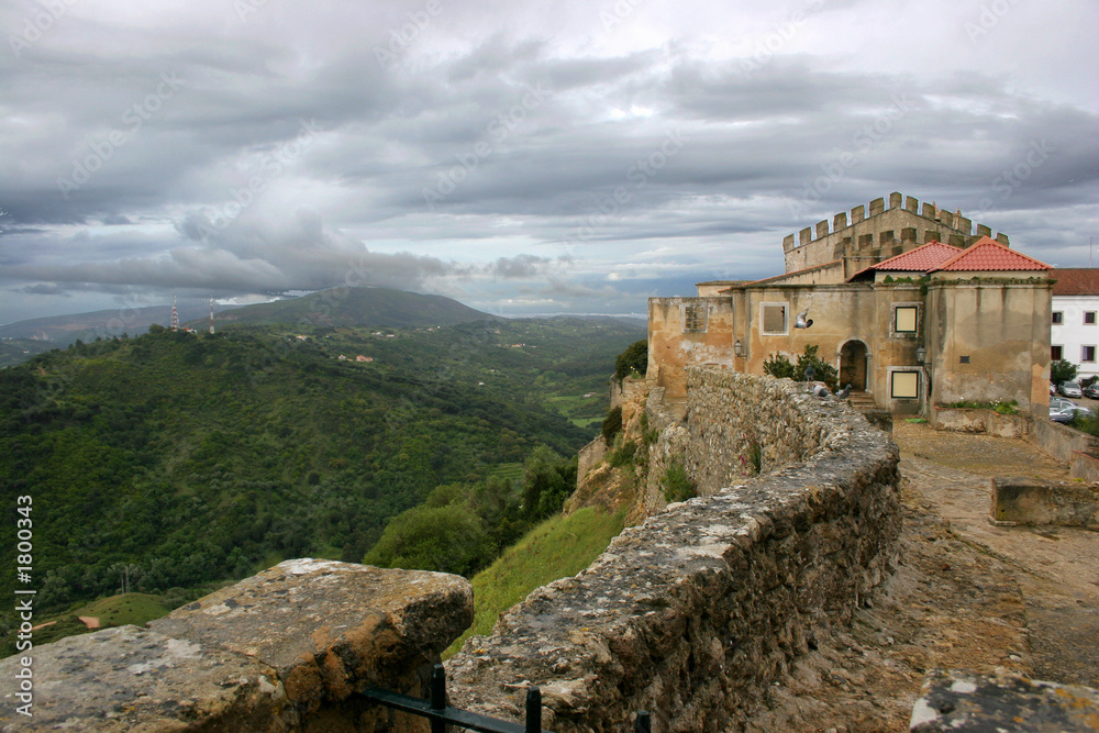
<path id="1" fill-rule="evenodd" d="M 1053 270 L 1051 358 L 1079 365 L 1079 376 L 1099 376 L 1099 267 Z"/>

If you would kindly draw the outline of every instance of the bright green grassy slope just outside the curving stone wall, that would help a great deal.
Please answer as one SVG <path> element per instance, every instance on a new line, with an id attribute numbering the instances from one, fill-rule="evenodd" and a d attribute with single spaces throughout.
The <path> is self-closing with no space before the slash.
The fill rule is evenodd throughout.
<path id="1" fill-rule="evenodd" d="M 622 531 L 623 517 L 585 508 L 531 530 L 474 576 L 474 624 L 446 649 L 444 658 L 462 648 L 469 636 L 490 633 L 500 614 L 535 588 L 591 565 Z"/>

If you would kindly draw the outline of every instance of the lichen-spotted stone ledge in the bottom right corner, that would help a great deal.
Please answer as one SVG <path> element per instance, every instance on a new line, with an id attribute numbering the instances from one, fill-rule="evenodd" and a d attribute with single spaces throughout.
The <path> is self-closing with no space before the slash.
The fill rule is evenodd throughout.
<path id="1" fill-rule="evenodd" d="M 1094 733 L 1099 690 L 1015 675 L 932 670 L 912 708 L 912 733 Z"/>

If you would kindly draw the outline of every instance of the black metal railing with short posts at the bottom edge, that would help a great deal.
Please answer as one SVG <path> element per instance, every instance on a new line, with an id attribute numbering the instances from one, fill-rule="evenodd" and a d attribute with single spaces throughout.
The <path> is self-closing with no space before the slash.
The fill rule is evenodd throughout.
<path id="1" fill-rule="evenodd" d="M 524 723 L 513 723 L 481 715 L 446 704 L 446 670 L 436 664 L 431 670 L 431 699 L 421 700 L 400 692 L 369 687 L 359 692 L 364 698 L 393 710 L 399 710 L 431 721 L 431 733 L 446 733 L 447 725 L 455 725 L 481 733 L 552 733 L 542 729 L 542 691 L 537 687 L 526 690 L 526 718 Z M 652 722 L 645 711 L 637 713 L 636 733 L 651 733 Z"/>

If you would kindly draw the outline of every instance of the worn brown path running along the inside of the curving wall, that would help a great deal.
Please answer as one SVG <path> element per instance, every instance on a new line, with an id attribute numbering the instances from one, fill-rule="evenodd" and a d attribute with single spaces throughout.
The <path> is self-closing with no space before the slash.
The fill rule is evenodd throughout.
<path id="1" fill-rule="evenodd" d="M 988 523 L 988 477 L 1067 479 L 1022 441 L 900 422 L 900 566 L 776 686 L 753 733 L 908 731 L 935 667 L 1099 687 L 1099 533 Z"/>

